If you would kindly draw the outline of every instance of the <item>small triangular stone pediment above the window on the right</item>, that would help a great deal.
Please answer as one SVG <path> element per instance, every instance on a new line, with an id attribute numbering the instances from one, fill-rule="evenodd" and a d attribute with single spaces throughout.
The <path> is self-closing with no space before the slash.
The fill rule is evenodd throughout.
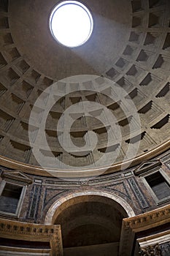
<path id="1" fill-rule="evenodd" d="M 153 160 L 153 161 L 147 161 L 142 162 L 136 169 L 134 170 L 134 174 L 136 176 L 141 175 L 142 173 L 147 172 L 148 170 L 152 170 L 152 168 L 160 166 L 161 161 L 160 160 Z"/>

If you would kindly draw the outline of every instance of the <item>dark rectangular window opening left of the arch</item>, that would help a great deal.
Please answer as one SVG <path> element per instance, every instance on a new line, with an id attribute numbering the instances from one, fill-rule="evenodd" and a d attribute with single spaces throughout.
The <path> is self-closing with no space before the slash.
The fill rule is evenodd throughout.
<path id="1" fill-rule="evenodd" d="M 4 181 L 1 184 L 0 213 L 18 216 L 24 187 Z"/>

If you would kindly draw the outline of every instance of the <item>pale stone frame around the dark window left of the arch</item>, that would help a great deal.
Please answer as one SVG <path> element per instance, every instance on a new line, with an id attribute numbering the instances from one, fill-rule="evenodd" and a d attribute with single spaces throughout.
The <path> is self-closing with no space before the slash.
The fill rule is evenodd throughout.
<path id="1" fill-rule="evenodd" d="M 18 186 L 18 187 L 22 187 L 22 191 L 20 193 L 20 199 L 18 200 L 18 206 L 16 208 L 15 214 L 10 213 L 10 212 L 6 212 L 6 211 L 1 211 L 1 210 L 0 210 L 0 214 L 5 215 L 5 216 L 11 216 L 11 217 L 19 217 L 20 216 L 20 211 L 21 211 L 21 208 L 22 208 L 22 205 L 23 205 L 23 200 L 24 200 L 24 197 L 26 195 L 26 186 L 23 185 L 23 184 L 18 184 L 18 183 L 15 183 L 15 182 L 12 182 L 12 181 L 7 181 L 7 180 L 3 179 L 1 181 L 1 184 L 0 184 L 0 196 L 1 196 L 2 192 L 4 191 L 4 188 L 5 188 L 6 184 L 12 184 L 12 185 L 15 185 L 15 186 Z"/>

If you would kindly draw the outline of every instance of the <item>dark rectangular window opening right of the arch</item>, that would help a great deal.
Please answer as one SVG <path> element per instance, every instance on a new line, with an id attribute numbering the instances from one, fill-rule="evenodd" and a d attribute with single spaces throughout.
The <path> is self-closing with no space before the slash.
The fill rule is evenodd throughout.
<path id="1" fill-rule="evenodd" d="M 147 184 L 152 189 L 152 195 L 157 203 L 161 203 L 166 199 L 170 199 L 170 185 L 166 178 L 157 171 L 144 177 Z"/>

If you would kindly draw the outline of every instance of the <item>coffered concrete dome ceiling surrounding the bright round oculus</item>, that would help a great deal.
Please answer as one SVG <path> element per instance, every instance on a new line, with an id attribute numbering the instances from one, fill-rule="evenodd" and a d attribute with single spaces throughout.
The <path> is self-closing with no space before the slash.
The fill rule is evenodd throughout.
<path id="1" fill-rule="evenodd" d="M 1 163 L 88 176 L 169 148 L 169 0 L 82 1 L 94 28 L 77 48 L 50 34 L 58 2 L 0 3 Z"/>

